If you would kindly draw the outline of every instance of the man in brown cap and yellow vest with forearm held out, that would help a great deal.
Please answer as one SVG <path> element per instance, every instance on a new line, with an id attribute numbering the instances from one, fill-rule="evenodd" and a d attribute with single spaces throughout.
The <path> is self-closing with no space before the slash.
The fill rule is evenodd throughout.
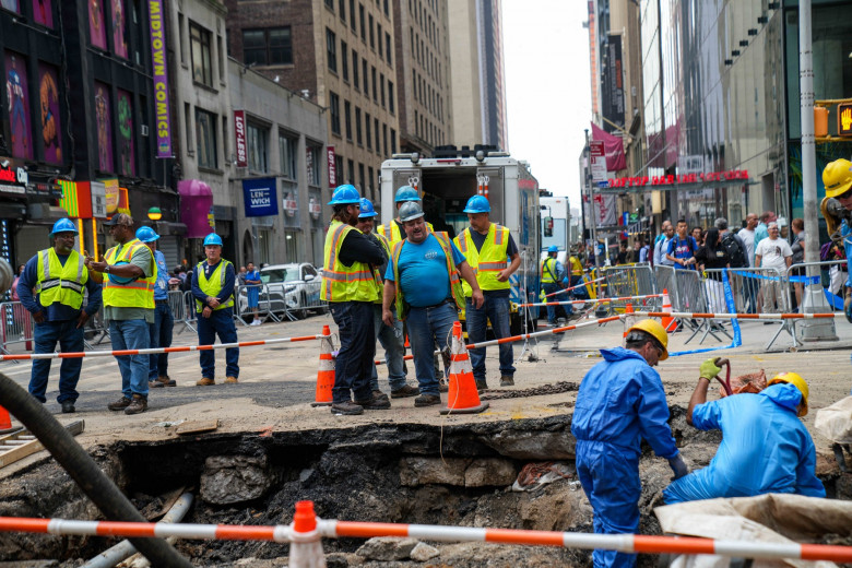
<path id="1" fill-rule="evenodd" d="M 133 233 L 133 218 L 118 213 L 105 223 L 117 245 L 104 261 L 90 261 L 104 273 L 104 319 L 109 322 L 113 350 L 146 350 L 149 324 L 154 322 L 154 283 L 157 267 L 151 249 Z M 139 414 L 147 410 L 147 355 L 117 355 L 121 371 L 121 398 L 107 405 L 110 411 Z"/>

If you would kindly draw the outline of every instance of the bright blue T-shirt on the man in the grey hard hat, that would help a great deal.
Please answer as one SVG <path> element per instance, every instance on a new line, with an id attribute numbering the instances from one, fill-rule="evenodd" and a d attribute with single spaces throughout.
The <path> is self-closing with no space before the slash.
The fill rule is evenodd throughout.
<path id="1" fill-rule="evenodd" d="M 458 267 L 464 262 L 464 255 L 454 242 L 450 241 L 450 247 L 452 262 Z M 418 245 L 410 240 L 403 241 L 398 270 L 400 282 L 397 285 L 401 286 L 405 301 L 413 308 L 435 306 L 452 298 L 450 276 L 447 274 L 447 256 L 438 238 L 431 233 Z M 394 281 L 393 262 L 388 263 L 384 280 Z"/>

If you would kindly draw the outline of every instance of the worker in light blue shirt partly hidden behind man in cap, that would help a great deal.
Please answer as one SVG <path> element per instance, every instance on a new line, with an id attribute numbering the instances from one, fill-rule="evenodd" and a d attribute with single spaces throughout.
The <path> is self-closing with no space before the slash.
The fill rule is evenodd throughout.
<path id="1" fill-rule="evenodd" d="M 149 326 L 149 346 L 170 347 L 175 317 L 171 313 L 171 306 L 168 305 L 166 257 L 157 250 L 159 235 L 151 227 L 139 227 L 137 238 L 151 249 L 157 265 L 157 280 L 154 284 L 154 323 Z M 177 386 L 177 381 L 168 378 L 168 353 L 152 353 L 149 355 L 147 365 L 149 389 Z"/>

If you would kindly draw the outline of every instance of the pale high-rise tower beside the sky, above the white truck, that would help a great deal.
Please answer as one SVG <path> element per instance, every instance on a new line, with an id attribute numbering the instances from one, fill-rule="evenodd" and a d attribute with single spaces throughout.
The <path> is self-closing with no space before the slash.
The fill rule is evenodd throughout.
<path id="1" fill-rule="evenodd" d="M 508 151 L 500 0 L 452 0 L 447 5 L 452 143 Z"/>

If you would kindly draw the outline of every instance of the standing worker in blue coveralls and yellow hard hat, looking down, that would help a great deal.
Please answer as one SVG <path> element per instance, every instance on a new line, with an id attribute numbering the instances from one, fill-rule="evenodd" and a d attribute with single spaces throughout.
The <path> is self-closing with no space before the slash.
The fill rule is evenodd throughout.
<path id="1" fill-rule="evenodd" d="M 639 530 L 640 442 L 668 460 L 675 477 L 688 473 L 668 426 L 668 405 L 652 368 L 668 357 L 668 335 L 651 319 L 630 328 L 625 347 L 601 350 L 603 359 L 583 377 L 571 434 L 577 438 L 577 476 L 594 510 L 594 532 Z M 636 556 L 594 551 L 594 566 L 632 566 Z"/>

